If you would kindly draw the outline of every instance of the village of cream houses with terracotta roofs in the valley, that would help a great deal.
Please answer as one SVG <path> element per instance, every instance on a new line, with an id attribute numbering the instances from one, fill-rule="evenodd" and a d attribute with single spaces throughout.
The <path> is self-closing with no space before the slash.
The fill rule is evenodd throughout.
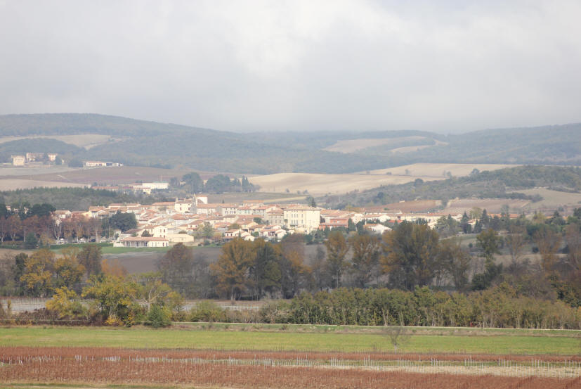
<path id="1" fill-rule="evenodd" d="M 209 203 L 208 196 L 198 195 L 151 205 L 113 203 L 106 207 L 91 206 L 86 212 L 56 210 L 54 217 L 58 222 L 66 224 L 70 219 L 79 217 L 98 220 L 129 213 L 135 216 L 136 228 L 125 231 L 115 229 L 105 234 L 103 241 L 128 248 L 159 248 L 176 243 L 226 243 L 237 237 L 246 241 L 254 241 L 256 238 L 280 241 L 287 234 L 348 229 L 350 224 L 363 224 L 366 231 L 383 234 L 391 230 L 394 224 L 403 221 L 421 221 L 433 228 L 442 217 L 450 216 L 459 222 L 463 216 L 441 212 L 403 213 L 399 210 L 372 212 L 361 208 L 327 210 L 303 204 L 267 204 L 263 200 L 244 200 L 242 204 Z M 469 221 L 472 225 L 474 222 Z M 61 238 L 60 242 L 64 242 L 64 239 Z"/>

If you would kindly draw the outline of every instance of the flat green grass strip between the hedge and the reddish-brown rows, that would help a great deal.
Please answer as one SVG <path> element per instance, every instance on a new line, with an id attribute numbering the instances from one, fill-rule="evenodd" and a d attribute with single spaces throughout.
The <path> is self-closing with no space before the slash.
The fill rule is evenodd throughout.
<path id="1" fill-rule="evenodd" d="M 195 328 L 195 327 L 192 327 Z M 256 327 L 260 330 L 260 327 Z M 578 331 L 532 336 L 515 332 L 485 335 L 413 335 L 403 352 L 466 352 L 490 354 L 576 355 Z M 392 351 L 387 336 L 361 332 L 297 332 L 292 329 L 257 331 L 247 326 L 228 331 L 202 329 L 14 327 L 0 329 L 0 347 L 74 346 L 128 348 L 195 348 L 214 350 Z"/>

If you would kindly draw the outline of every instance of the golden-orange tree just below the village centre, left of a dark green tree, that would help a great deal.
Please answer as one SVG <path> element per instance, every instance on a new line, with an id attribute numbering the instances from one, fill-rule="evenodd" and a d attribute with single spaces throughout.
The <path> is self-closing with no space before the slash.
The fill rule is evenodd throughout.
<path id="1" fill-rule="evenodd" d="M 255 256 L 252 242 L 234 238 L 222 246 L 218 261 L 210 264 L 216 277 L 216 288 L 228 294 L 233 303 L 249 286 L 249 271 Z"/>

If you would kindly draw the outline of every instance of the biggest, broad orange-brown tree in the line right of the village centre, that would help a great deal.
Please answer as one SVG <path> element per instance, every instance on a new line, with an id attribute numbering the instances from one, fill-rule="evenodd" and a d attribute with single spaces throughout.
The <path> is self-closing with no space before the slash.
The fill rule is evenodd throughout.
<path id="1" fill-rule="evenodd" d="M 438 233 L 425 224 L 402 222 L 383 235 L 381 266 L 396 288 L 412 291 L 429 285 L 438 255 Z"/>

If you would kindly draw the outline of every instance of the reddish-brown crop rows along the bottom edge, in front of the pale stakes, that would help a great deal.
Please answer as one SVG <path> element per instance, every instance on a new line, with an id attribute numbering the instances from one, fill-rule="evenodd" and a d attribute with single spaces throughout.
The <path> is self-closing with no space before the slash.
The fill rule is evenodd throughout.
<path id="1" fill-rule="evenodd" d="M 248 366 L 105 359 L 27 359 L 0 368 L 0 382 L 187 383 L 229 388 L 579 389 L 581 377 L 419 374 L 320 367 Z"/>

